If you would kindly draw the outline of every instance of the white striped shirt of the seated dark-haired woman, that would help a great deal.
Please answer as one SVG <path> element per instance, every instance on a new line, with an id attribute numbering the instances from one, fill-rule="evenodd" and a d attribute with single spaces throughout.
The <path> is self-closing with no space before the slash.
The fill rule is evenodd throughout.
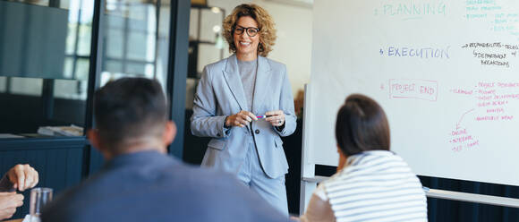
<path id="1" fill-rule="evenodd" d="M 315 194 L 336 221 L 427 221 L 421 183 L 404 160 L 386 150 L 353 155 Z"/>

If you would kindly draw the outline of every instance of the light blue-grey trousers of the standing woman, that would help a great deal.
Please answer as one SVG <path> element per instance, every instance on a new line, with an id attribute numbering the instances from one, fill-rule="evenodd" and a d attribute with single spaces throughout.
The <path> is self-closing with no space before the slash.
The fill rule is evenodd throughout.
<path id="1" fill-rule="evenodd" d="M 278 209 L 288 217 L 288 204 L 286 201 L 285 175 L 277 178 L 268 177 L 259 164 L 258 151 L 254 140 L 250 137 L 247 156 L 238 172 L 238 179 L 252 191 L 257 192 L 265 201 L 268 201 L 275 209 Z"/>

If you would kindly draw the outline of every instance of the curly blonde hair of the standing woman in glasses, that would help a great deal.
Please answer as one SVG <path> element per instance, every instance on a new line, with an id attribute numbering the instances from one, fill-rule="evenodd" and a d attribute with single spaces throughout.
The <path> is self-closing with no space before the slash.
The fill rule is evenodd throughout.
<path id="1" fill-rule="evenodd" d="M 267 11 L 257 4 L 240 4 L 236 6 L 233 13 L 225 17 L 223 23 L 223 36 L 229 44 L 229 52 L 236 52 L 236 45 L 234 44 L 234 27 L 236 22 L 243 16 L 251 16 L 258 22 L 259 29 L 259 45 L 258 55 L 267 57 L 268 53 L 272 51 L 272 47 L 276 41 L 276 29 L 274 28 L 274 20 L 267 13 Z"/>

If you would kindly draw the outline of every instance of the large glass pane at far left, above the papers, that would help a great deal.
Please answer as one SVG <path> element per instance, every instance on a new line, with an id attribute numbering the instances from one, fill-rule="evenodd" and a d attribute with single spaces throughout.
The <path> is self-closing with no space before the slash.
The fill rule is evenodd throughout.
<path id="1" fill-rule="evenodd" d="M 84 126 L 93 6 L 0 0 L 0 133 L 44 137 L 45 126 Z"/>

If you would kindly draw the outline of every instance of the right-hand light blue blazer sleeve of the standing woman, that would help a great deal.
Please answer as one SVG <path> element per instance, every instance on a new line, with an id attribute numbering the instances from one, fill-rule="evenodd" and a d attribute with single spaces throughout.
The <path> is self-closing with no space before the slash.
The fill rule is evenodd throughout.
<path id="1" fill-rule="evenodd" d="M 294 112 L 294 96 L 292 96 L 292 87 L 286 74 L 286 66 L 283 65 L 283 86 L 279 98 L 279 108 L 285 113 L 285 127 L 275 127 L 275 131 L 280 136 L 289 136 L 295 131 L 296 119 Z"/>

